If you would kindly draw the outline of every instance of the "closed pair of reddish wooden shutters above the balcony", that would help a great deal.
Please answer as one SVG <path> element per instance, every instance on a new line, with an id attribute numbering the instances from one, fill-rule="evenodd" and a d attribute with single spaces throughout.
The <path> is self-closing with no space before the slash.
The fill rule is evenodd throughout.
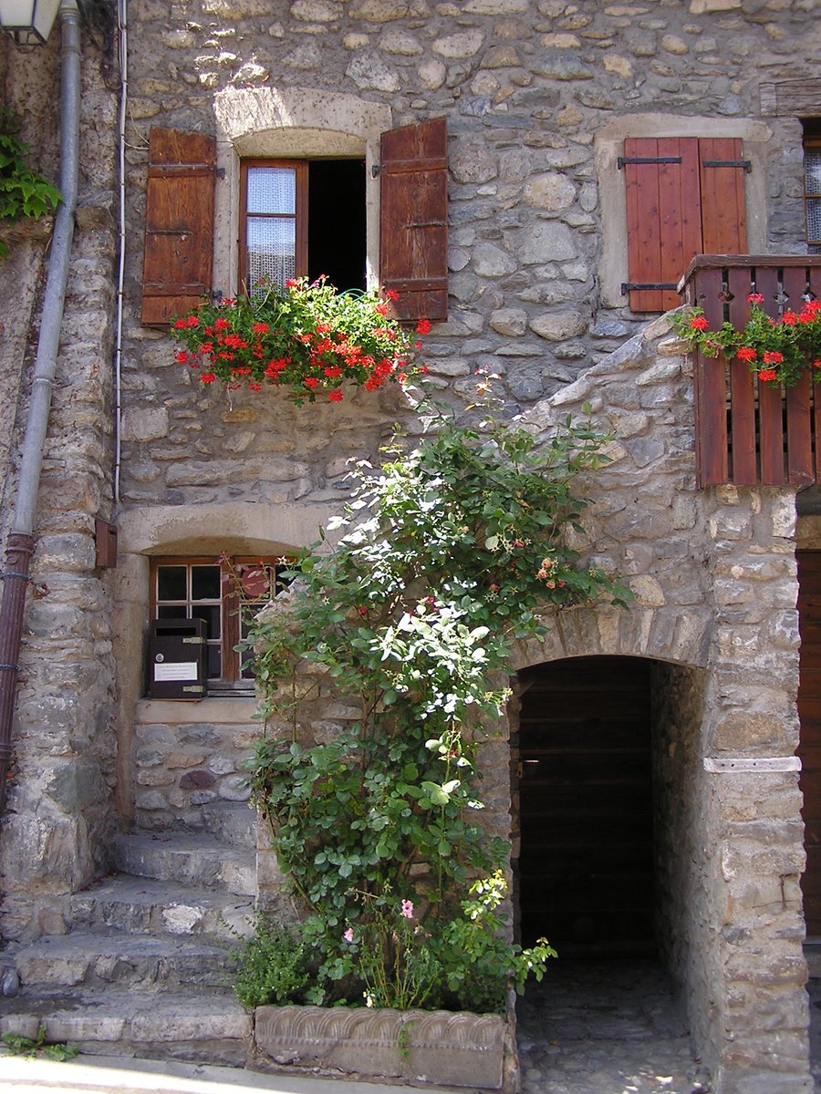
<path id="1" fill-rule="evenodd" d="M 697 254 L 747 251 L 744 170 L 735 138 L 624 142 L 627 282 L 633 312 L 681 303 L 679 279 Z"/>

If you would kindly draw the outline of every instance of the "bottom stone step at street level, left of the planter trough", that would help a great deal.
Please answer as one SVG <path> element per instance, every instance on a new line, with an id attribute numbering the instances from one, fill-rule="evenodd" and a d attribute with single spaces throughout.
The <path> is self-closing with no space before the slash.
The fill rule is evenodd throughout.
<path id="1" fill-rule="evenodd" d="M 97 1056 L 138 1056 L 243 1067 L 252 1019 L 233 991 L 136 992 L 78 987 L 44 990 L 36 1000 L 0 999 L 0 1034 L 71 1041 Z"/>

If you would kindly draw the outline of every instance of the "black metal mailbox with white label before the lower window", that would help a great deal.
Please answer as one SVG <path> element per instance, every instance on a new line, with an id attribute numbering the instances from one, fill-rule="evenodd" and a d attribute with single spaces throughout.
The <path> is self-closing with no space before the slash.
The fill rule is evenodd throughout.
<path id="1" fill-rule="evenodd" d="M 201 699 L 206 694 L 205 619 L 154 619 L 148 637 L 152 699 Z"/>

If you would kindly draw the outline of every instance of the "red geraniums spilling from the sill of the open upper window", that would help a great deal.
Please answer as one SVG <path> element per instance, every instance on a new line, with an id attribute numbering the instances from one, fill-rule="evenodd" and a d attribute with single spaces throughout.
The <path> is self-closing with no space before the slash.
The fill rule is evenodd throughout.
<path id="1" fill-rule="evenodd" d="M 414 338 L 430 323 L 405 330 L 389 314 L 396 299 L 390 289 L 384 299 L 377 290 L 337 292 L 325 277 L 297 278 L 285 290 L 261 280 L 250 295 L 204 301 L 174 321 L 171 336 L 184 347 L 176 360 L 204 384 L 258 392 L 269 383 L 290 387 L 297 406 L 319 395 L 338 403 L 343 381 L 375 391 L 427 372 L 413 361 L 421 345 Z"/>

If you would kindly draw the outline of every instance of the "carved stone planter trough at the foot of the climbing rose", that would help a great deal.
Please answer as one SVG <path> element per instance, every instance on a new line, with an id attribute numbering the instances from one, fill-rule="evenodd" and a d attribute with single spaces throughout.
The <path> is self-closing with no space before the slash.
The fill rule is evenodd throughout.
<path id="1" fill-rule="evenodd" d="M 259 1006 L 254 1063 L 412 1085 L 516 1089 L 516 1043 L 497 1014 Z"/>

